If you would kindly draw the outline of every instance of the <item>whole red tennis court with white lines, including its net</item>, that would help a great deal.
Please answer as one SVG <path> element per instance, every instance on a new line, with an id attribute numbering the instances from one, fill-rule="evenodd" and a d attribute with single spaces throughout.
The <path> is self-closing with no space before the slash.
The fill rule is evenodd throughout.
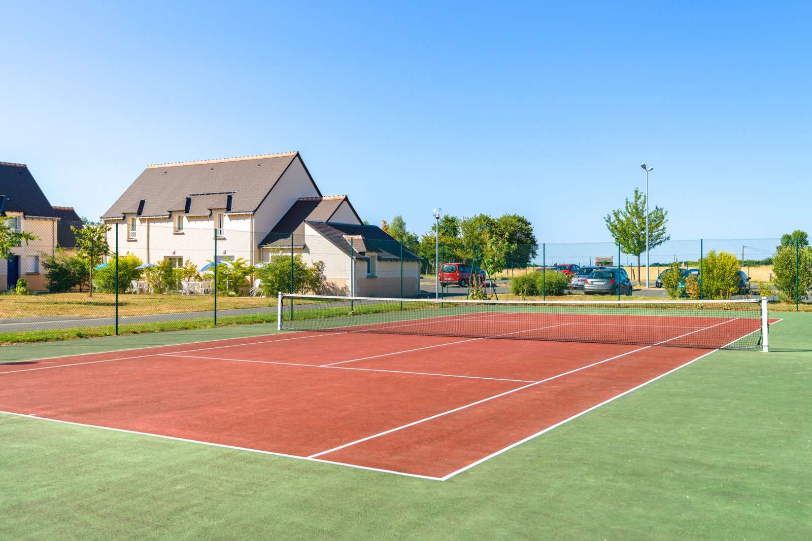
<path id="1" fill-rule="evenodd" d="M 766 341 L 758 303 L 317 298 L 286 316 L 286 300 L 290 333 L 0 365 L 0 410 L 449 479 L 719 348 Z"/>

